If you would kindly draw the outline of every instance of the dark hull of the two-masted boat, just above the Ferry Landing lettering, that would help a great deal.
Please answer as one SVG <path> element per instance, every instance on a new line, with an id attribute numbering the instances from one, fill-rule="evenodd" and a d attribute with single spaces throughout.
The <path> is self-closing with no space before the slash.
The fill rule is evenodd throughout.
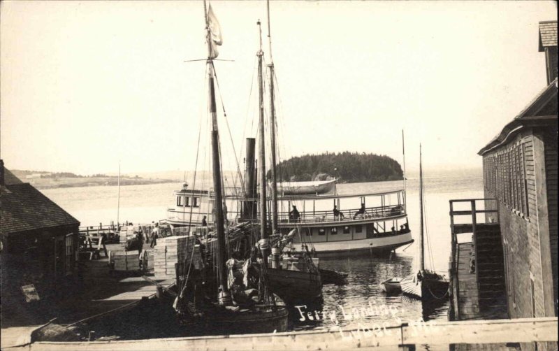
<path id="1" fill-rule="evenodd" d="M 269 267 L 266 271 L 270 289 L 288 305 L 312 301 L 322 294 L 319 273 Z"/>

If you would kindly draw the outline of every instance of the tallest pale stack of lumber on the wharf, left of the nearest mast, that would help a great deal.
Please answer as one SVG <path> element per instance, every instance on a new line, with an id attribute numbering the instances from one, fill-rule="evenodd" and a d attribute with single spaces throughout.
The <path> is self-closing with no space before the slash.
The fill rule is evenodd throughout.
<path id="1" fill-rule="evenodd" d="M 195 243 L 194 236 L 168 236 L 157 239 L 154 252 L 155 278 L 175 278 L 175 264 L 190 258 Z"/>

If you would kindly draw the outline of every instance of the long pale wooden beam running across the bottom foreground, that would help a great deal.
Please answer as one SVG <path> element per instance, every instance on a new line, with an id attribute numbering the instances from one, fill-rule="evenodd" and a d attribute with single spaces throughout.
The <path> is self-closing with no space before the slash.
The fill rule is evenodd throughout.
<path id="1" fill-rule="evenodd" d="M 129 341 L 36 342 L 6 350 L 449 350 L 453 345 L 486 341 L 487 350 L 505 343 L 558 341 L 556 317 L 517 320 L 433 322 L 382 327 L 364 324 L 358 329 L 288 331 L 270 334 L 199 336 Z M 507 350 L 504 347 L 504 350 Z"/>

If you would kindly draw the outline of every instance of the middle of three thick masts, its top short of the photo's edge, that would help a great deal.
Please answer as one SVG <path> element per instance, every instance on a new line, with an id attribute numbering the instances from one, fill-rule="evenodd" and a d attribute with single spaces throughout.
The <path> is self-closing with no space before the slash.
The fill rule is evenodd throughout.
<path id="1" fill-rule="evenodd" d="M 266 144 L 264 143 L 264 83 L 262 74 L 263 64 L 263 51 L 262 51 L 262 29 L 260 27 L 260 20 L 256 22 L 259 29 L 260 50 L 256 52 L 258 56 L 258 89 L 259 89 L 259 176 L 260 176 L 260 237 L 263 240 L 268 240 L 268 231 L 266 230 Z M 268 250 L 262 250 L 262 258 L 264 264 L 268 259 Z"/>

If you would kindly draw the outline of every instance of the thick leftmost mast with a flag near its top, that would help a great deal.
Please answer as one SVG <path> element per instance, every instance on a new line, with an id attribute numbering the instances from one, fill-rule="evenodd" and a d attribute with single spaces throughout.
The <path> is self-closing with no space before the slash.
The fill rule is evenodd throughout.
<path id="1" fill-rule="evenodd" d="M 214 65 L 212 59 L 212 36 L 210 33 L 210 25 L 208 24 L 208 10 L 204 0 L 204 15 L 206 39 L 208 41 L 208 60 L 206 62 L 208 68 L 208 87 L 210 100 L 210 115 L 212 115 L 212 175 L 214 181 L 215 196 L 215 231 L 217 233 L 217 271 L 219 275 L 219 303 L 221 305 L 231 305 L 231 294 L 227 289 L 227 268 L 226 252 L 225 252 L 225 231 L 224 231 L 224 213 L 222 198 L 222 166 L 219 159 L 219 130 L 217 128 L 217 113 L 215 108 L 215 86 L 214 86 Z"/>

